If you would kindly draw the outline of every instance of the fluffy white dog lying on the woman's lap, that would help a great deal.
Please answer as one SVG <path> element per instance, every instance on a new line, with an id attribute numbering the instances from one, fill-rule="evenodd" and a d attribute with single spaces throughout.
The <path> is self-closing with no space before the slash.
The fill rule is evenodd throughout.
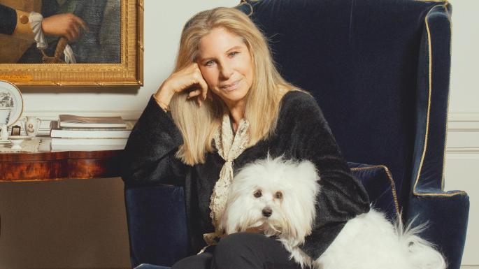
<path id="1" fill-rule="evenodd" d="M 336 239 L 313 261 L 299 246 L 311 233 L 320 180 L 310 161 L 282 157 L 242 168 L 229 189 L 220 228 L 227 234 L 262 231 L 278 235 L 301 267 L 322 269 L 444 269 L 443 256 L 417 233 L 424 226 L 395 226 L 371 208 L 348 221 Z M 321 216 L 318 216 L 321 217 Z"/>

